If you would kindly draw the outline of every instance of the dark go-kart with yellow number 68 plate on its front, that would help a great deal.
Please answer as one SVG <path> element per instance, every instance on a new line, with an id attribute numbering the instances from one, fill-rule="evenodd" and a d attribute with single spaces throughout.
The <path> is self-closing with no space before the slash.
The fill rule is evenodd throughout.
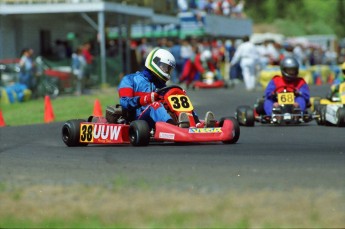
<path id="1" fill-rule="evenodd" d="M 277 91 L 279 91 L 277 89 Z M 276 93 L 278 107 L 272 108 L 272 115 L 267 115 L 264 110 L 264 97 L 257 99 L 254 108 L 242 105 L 237 107 L 235 117 L 240 125 L 254 126 L 255 122 L 262 124 L 288 125 L 307 123 L 316 118 L 309 109 L 302 111 L 299 107 L 294 107 L 295 92 L 284 89 Z M 308 106 L 309 107 L 309 106 Z"/>

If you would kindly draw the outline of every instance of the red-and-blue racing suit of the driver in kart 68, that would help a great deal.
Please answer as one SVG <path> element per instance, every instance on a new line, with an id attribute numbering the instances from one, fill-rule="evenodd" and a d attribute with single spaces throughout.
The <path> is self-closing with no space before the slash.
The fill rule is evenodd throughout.
<path id="1" fill-rule="evenodd" d="M 306 110 L 310 92 L 309 86 L 304 79 L 298 77 L 295 81 L 288 82 L 281 76 L 274 76 L 265 90 L 264 109 L 266 115 L 272 115 L 273 104 L 277 102 L 277 93 L 283 92 L 284 89 L 286 89 L 286 92 L 294 92 L 295 103 L 299 105 L 302 111 Z"/>

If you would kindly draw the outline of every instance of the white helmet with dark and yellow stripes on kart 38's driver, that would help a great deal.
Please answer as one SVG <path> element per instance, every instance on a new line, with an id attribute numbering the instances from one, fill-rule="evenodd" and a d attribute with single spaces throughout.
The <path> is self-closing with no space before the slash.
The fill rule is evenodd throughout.
<path id="1" fill-rule="evenodd" d="M 175 65 L 175 57 L 169 51 L 161 48 L 153 49 L 145 61 L 145 67 L 164 82 L 170 79 L 170 73 Z"/>

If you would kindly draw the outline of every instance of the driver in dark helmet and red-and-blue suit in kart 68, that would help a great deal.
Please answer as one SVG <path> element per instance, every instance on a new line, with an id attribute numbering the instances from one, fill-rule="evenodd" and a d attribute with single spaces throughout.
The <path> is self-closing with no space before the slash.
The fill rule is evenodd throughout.
<path id="1" fill-rule="evenodd" d="M 264 109 L 268 116 L 272 115 L 273 107 L 279 107 L 277 93 L 294 92 L 294 107 L 305 111 L 309 104 L 309 86 L 303 78 L 298 77 L 299 64 L 293 57 L 286 57 L 280 62 L 282 76 L 276 75 L 265 89 Z"/>

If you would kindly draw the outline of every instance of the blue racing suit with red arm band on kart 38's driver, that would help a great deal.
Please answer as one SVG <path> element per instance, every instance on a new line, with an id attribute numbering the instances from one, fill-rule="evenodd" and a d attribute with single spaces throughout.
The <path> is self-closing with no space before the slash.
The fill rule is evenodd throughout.
<path id="1" fill-rule="evenodd" d="M 146 120 L 151 128 L 158 121 L 167 122 L 172 117 L 163 104 L 154 102 L 147 106 L 140 105 L 140 97 L 165 87 L 147 68 L 141 72 L 132 73 L 123 77 L 118 87 L 120 105 L 122 108 L 133 111 L 135 118 Z"/>

